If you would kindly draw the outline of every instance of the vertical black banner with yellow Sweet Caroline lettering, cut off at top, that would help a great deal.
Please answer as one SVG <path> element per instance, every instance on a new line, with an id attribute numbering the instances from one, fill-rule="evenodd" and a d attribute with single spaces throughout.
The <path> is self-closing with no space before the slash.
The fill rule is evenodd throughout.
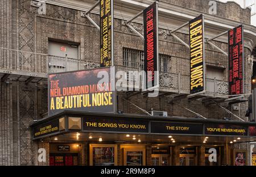
<path id="1" fill-rule="evenodd" d="M 114 64 L 113 56 L 113 0 L 100 1 L 100 47 L 101 67 Z"/>

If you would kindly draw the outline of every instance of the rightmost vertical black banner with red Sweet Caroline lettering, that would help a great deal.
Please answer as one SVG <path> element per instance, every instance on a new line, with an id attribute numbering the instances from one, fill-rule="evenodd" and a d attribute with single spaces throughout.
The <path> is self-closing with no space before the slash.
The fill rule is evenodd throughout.
<path id="1" fill-rule="evenodd" d="M 230 29 L 229 43 L 229 95 L 243 94 L 243 26 Z"/>

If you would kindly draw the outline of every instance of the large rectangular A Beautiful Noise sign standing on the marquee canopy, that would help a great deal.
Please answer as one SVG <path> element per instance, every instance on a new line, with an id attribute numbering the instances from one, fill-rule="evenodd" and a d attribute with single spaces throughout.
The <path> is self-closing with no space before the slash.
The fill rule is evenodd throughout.
<path id="1" fill-rule="evenodd" d="M 49 115 L 64 109 L 114 112 L 114 68 L 71 71 L 48 75 Z M 113 71 L 114 72 L 114 71 Z M 100 77 L 98 77 L 100 75 Z M 100 83 L 102 79 L 106 81 Z"/>

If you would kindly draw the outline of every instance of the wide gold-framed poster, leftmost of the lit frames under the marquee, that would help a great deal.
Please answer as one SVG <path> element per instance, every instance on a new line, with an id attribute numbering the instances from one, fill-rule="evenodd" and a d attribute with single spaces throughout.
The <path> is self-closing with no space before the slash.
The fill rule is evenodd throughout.
<path id="1" fill-rule="evenodd" d="M 117 165 L 117 145 L 90 144 L 90 166 Z"/>

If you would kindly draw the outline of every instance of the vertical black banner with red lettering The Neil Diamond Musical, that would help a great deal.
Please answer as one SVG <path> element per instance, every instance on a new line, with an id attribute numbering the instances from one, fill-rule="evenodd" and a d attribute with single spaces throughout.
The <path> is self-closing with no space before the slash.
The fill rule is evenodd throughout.
<path id="1" fill-rule="evenodd" d="M 144 18 L 144 71 L 146 88 L 158 87 L 158 3 L 143 11 Z"/>

